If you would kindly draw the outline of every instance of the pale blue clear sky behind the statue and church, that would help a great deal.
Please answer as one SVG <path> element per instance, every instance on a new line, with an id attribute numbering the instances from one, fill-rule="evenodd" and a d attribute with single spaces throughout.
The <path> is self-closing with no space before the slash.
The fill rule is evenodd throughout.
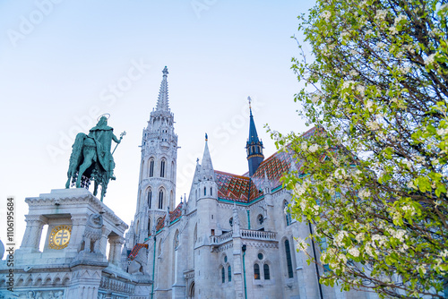
<path id="1" fill-rule="evenodd" d="M 26 197 L 65 188 L 74 137 L 103 113 L 116 135 L 116 181 L 105 204 L 134 219 L 142 129 L 168 66 L 178 135 L 177 202 L 189 188 L 208 133 L 215 170 L 248 170 L 247 97 L 268 158 L 264 124 L 305 132 L 290 70 L 297 15 L 312 1 L 0 1 L 0 240 L 6 199 L 15 200 L 19 247 Z M 115 146 L 113 144 L 113 146 Z M 90 187 L 90 191 L 91 187 Z M 5 242 L 4 242 L 5 243 Z"/>

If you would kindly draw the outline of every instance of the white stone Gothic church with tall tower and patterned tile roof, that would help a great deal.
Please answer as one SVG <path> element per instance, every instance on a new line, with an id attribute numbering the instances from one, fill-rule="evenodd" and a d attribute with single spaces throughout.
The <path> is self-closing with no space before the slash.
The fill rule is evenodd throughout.
<path id="1" fill-rule="evenodd" d="M 295 238 L 312 229 L 284 212 L 291 193 L 280 176 L 297 170 L 296 163 L 284 152 L 264 159 L 252 111 L 249 172 L 214 169 L 206 136 L 191 191 L 175 207 L 177 135 L 167 76 L 165 68 L 157 107 L 142 133 L 137 209 L 125 238 L 126 254 L 137 243 L 148 245 L 154 298 L 375 298 L 320 285 L 323 269 L 308 266 L 296 251 Z"/>

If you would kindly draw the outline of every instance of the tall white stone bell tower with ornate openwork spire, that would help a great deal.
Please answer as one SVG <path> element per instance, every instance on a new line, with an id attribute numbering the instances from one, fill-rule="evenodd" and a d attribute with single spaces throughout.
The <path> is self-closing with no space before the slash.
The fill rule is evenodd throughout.
<path id="1" fill-rule="evenodd" d="M 177 134 L 174 115 L 168 106 L 168 68 L 162 71 L 157 106 L 142 132 L 142 160 L 137 210 L 130 242 L 143 243 L 167 210 L 175 208 L 177 173 Z M 133 240 L 134 239 L 134 240 Z"/>

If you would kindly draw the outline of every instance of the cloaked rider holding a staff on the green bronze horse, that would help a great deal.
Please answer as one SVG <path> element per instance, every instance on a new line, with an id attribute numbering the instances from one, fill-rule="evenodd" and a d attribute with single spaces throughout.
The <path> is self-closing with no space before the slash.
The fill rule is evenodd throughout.
<path id="1" fill-rule="evenodd" d="M 113 131 L 114 129 L 108 126 L 108 118 L 106 118 L 106 116 L 101 116 L 98 124 L 90 129 L 89 137 L 92 138 L 97 145 L 99 164 L 101 164 L 101 166 L 108 172 L 108 177 L 115 180 L 115 162 L 110 153 L 110 147 L 112 141 L 116 141 L 116 143 L 120 143 L 121 141 L 116 138 Z"/>

